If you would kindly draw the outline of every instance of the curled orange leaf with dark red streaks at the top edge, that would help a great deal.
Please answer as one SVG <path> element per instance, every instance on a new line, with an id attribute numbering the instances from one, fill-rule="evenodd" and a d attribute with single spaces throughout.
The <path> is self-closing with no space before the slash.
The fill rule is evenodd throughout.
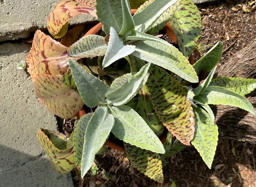
<path id="1" fill-rule="evenodd" d="M 84 0 L 83 4 L 80 4 L 72 0 L 61 0 L 50 12 L 48 31 L 54 38 L 61 38 L 68 31 L 68 21 L 79 14 L 97 17 L 92 1 Z"/>

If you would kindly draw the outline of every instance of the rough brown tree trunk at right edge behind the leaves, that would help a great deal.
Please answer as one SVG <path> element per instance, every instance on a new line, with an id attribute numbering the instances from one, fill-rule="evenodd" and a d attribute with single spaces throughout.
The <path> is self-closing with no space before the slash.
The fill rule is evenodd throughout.
<path id="1" fill-rule="evenodd" d="M 240 77 L 256 79 L 256 39 L 234 54 L 217 69 L 216 77 Z M 256 108 L 256 91 L 246 95 Z M 220 142 L 239 140 L 256 144 L 256 116 L 232 106 L 213 106 L 215 122 L 219 127 Z"/>

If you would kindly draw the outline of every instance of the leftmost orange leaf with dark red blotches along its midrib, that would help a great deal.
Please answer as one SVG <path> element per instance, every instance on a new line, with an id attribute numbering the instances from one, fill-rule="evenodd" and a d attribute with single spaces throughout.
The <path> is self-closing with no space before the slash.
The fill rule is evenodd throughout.
<path id="1" fill-rule="evenodd" d="M 37 30 L 26 58 L 31 78 L 40 74 L 61 75 L 68 69 L 68 47 Z"/>

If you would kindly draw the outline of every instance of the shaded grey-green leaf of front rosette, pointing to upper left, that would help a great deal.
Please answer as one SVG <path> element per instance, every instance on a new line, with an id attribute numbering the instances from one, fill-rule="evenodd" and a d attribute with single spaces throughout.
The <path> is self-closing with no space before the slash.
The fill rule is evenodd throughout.
<path id="1" fill-rule="evenodd" d="M 93 108 L 99 102 L 105 102 L 105 95 L 110 92 L 106 83 L 87 72 L 72 59 L 69 59 L 69 68 L 75 79 L 77 90 L 87 106 Z"/>

